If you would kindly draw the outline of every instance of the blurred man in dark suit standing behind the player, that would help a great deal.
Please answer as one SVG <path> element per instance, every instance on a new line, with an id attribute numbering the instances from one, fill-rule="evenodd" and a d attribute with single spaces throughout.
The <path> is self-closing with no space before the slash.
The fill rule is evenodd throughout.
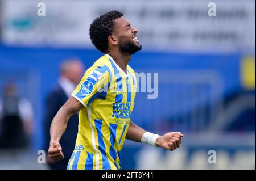
<path id="1" fill-rule="evenodd" d="M 45 128 L 45 150 L 48 150 L 50 133 L 49 129 L 53 117 L 56 115 L 57 111 L 61 106 L 69 99 L 76 85 L 79 83 L 82 74 L 84 73 L 84 65 L 80 60 L 66 60 L 60 65 L 60 77 L 56 86 L 49 93 L 46 103 L 46 118 L 44 120 Z M 54 162 L 52 159 L 47 159 L 48 165 L 54 170 L 65 170 L 69 157 L 71 156 L 73 149 L 75 147 L 75 141 L 77 136 L 77 129 L 79 124 L 79 116 L 77 114 L 71 117 L 71 121 L 67 126 L 67 131 L 63 134 L 60 141 L 64 148 L 64 154 L 67 155 L 65 159 L 60 162 Z"/>

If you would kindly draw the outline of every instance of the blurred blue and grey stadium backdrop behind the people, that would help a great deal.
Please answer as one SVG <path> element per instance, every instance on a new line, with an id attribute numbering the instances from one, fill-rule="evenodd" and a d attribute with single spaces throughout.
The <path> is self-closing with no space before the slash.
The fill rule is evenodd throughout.
<path id="1" fill-rule="evenodd" d="M 46 16 L 37 15 L 39 2 Z M 139 30 L 143 50 L 130 65 L 159 73 L 158 98 L 138 93 L 132 120 L 150 132 L 185 135 L 174 152 L 126 141 L 123 169 L 255 169 L 255 1 L 214 0 L 217 16 L 208 16 L 209 2 L 0 0 L 0 95 L 14 82 L 34 115 L 30 151 L 0 151 L 0 169 L 48 169 L 37 153 L 59 64 L 78 58 L 89 68 L 101 56 L 89 25 L 115 9 Z"/>

